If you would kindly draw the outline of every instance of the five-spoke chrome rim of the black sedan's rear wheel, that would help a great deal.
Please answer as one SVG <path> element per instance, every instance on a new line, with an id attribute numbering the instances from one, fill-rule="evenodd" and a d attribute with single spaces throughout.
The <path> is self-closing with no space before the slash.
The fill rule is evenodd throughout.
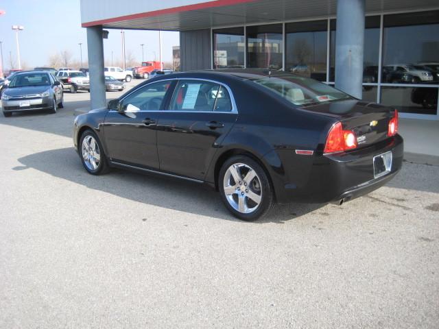
<path id="1" fill-rule="evenodd" d="M 228 167 L 223 188 L 228 204 L 243 214 L 254 212 L 261 204 L 261 180 L 247 164 L 235 163 Z"/>

